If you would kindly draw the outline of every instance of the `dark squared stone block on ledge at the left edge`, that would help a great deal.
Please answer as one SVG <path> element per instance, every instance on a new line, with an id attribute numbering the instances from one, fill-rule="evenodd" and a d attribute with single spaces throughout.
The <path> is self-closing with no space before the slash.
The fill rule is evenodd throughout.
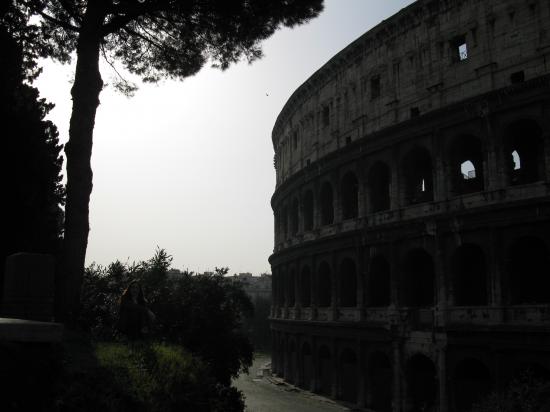
<path id="1" fill-rule="evenodd" d="M 6 258 L 1 315 L 38 321 L 53 320 L 55 260 L 38 253 Z"/>

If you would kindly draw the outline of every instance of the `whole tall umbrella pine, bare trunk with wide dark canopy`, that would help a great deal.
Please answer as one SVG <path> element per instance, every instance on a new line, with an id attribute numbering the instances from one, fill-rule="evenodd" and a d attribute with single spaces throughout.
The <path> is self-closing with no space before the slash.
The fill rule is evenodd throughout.
<path id="1" fill-rule="evenodd" d="M 2 0 L 14 15 L 33 15 L 40 27 L 19 20 L 27 47 L 40 55 L 67 61 L 76 52 L 71 90 L 67 155 L 67 206 L 62 269 L 57 279 L 58 317 L 78 312 L 88 245 L 88 208 L 92 191 L 90 158 L 103 80 L 99 58 L 119 61 L 144 81 L 183 79 L 205 64 L 225 69 L 246 58 L 261 57 L 260 42 L 281 26 L 293 27 L 316 17 L 323 0 Z M 27 21 L 28 22 L 28 21 Z M 119 89 L 131 92 L 122 82 Z"/>

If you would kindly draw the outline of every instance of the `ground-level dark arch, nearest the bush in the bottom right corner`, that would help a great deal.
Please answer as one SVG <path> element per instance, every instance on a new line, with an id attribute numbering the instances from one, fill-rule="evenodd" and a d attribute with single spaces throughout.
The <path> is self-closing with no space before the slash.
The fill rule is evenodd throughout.
<path id="1" fill-rule="evenodd" d="M 458 363 L 454 373 L 454 399 L 457 412 L 469 412 L 472 406 L 491 392 L 491 373 L 477 359 L 468 358 Z"/>

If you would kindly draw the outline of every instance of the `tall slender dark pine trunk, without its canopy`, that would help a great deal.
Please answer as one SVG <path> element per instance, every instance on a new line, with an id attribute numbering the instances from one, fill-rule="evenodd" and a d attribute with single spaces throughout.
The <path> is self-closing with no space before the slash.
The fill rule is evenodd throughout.
<path id="1" fill-rule="evenodd" d="M 89 202 L 92 192 L 93 131 L 103 81 L 99 72 L 101 26 L 105 18 L 102 1 L 89 0 L 77 45 L 73 110 L 67 156 L 67 201 L 65 236 L 56 282 L 56 312 L 59 320 L 72 322 L 78 315 L 89 232 Z"/>

